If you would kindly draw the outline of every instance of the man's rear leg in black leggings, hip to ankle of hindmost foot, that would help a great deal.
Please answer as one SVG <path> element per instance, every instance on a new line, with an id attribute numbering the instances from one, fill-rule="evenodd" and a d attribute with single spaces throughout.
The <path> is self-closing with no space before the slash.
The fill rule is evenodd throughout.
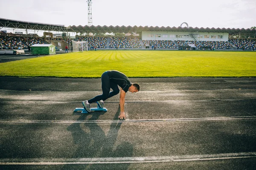
<path id="1" fill-rule="evenodd" d="M 108 77 L 108 71 L 105 71 L 103 74 L 102 74 L 102 77 L 101 77 L 101 80 L 102 80 L 102 94 L 99 95 L 99 96 L 95 96 L 93 99 L 90 99 L 88 100 L 88 103 L 93 103 L 93 102 L 97 102 L 97 101 L 100 101 L 100 100 L 106 100 L 108 99 L 108 96 L 109 96 L 109 91 L 110 91 L 110 80 L 109 80 L 109 77 Z"/>

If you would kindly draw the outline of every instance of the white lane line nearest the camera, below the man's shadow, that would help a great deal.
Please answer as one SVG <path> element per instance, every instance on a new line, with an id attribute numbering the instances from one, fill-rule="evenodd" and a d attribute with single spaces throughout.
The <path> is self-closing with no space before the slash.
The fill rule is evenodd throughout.
<path id="1" fill-rule="evenodd" d="M 0 165 L 51 165 L 51 164 L 125 164 L 177 161 L 205 161 L 219 159 L 256 158 L 256 152 L 219 153 L 181 156 L 109 157 L 109 158 L 61 158 L 61 159 L 0 159 Z"/>

